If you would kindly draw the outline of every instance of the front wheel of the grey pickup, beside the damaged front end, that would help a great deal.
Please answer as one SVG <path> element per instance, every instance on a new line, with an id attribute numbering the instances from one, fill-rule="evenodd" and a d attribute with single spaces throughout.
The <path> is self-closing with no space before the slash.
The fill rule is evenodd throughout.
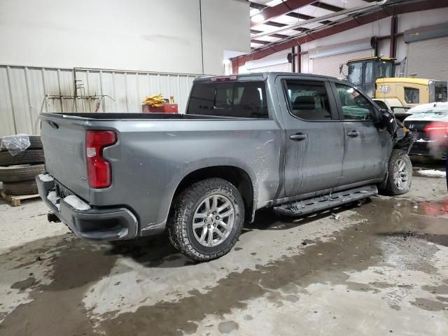
<path id="1" fill-rule="evenodd" d="M 379 186 L 382 194 L 396 196 L 409 192 L 412 184 L 412 163 L 405 151 L 392 151 L 387 173 L 387 179 Z"/>

